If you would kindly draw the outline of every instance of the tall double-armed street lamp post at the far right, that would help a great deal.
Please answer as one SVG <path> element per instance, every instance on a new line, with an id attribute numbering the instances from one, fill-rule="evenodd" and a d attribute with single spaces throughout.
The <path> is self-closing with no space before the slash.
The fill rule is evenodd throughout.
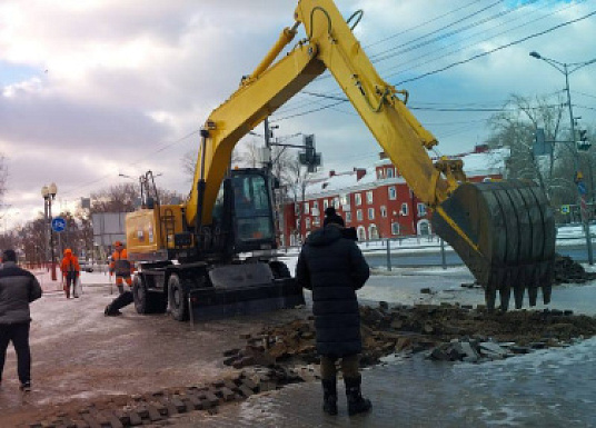
<path id="1" fill-rule="evenodd" d="M 536 58 L 536 59 L 545 61 L 547 64 L 549 64 L 550 67 L 557 69 L 559 72 L 562 72 L 565 76 L 565 91 L 567 92 L 567 106 L 569 106 L 569 127 L 570 127 L 569 130 L 572 132 L 572 143 L 574 145 L 574 147 L 573 147 L 574 167 L 575 167 L 574 181 L 577 183 L 577 192 L 578 192 L 578 196 L 579 196 L 579 203 L 580 203 L 580 207 L 582 207 L 580 212 L 582 212 L 582 220 L 584 222 L 584 230 L 585 230 L 585 233 L 586 233 L 586 247 L 588 249 L 588 262 L 590 265 L 594 265 L 594 256 L 593 256 L 593 251 L 592 251 L 592 238 L 589 236 L 589 219 L 588 219 L 588 216 L 587 216 L 587 212 L 586 212 L 587 211 L 587 209 L 586 209 L 586 195 L 585 195 L 586 192 L 585 192 L 585 190 L 582 190 L 582 189 L 585 189 L 585 187 L 583 187 L 579 183 L 582 173 L 579 171 L 579 159 L 578 159 L 578 153 L 577 153 L 577 143 L 575 141 L 575 119 L 574 119 L 574 111 L 573 111 L 573 106 L 572 106 L 572 92 L 569 90 L 569 74 L 575 72 L 575 71 L 577 71 L 577 70 L 579 70 L 583 67 L 586 67 L 586 66 L 589 66 L 590 63 L 596 62 L 596 58 L 592 59 L 589 61 L 585 61 L 585 62 L 566 63 L 566 62 L 559 62 L 559 61 L 556 61 L 554 59 L 543 57 L 542 54 L 539 54 L 536 51 L 529 52 L 529 56 L 533 57 L 533 58 Z M 593 191 L 594 191 L 594 189 L 593 189 Z"/>

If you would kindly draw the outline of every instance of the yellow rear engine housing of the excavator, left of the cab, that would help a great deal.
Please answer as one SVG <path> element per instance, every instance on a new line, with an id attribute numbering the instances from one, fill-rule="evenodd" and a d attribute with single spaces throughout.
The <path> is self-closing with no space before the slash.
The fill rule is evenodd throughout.
<path id="1" fill-rule="evenodd" d="M 163 258 L 173 248 L 173 235 L 183 231 L 182 206 L 140 209 L 126 216 L 128 253 L 133 259 Z"/>

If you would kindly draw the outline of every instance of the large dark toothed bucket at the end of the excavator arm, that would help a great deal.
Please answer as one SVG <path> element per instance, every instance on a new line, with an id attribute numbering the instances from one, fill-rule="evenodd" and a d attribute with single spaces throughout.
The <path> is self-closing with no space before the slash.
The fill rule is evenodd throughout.
<path id="1" fill-rule="evenodd" d="M 525 290 L 530 306 L 538 288 L 550 301 L 555 259 L 555 219 L 544 192 L 520 180 L 460 185 L 433 213 L 435 231 L 466 263 L 485 288 L 486 306 L 522 308 Z"/>

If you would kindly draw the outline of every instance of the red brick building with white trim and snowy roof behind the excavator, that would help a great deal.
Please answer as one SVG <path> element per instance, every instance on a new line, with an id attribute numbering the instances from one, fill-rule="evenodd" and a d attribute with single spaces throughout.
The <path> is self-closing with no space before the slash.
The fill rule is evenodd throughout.
<path id="1" fill-rule="evenodd" d="M 503 153 L 478 146 L 470 153 L 453 158 L 464 160 L 471 181 L 503 178 Z M 384 157 L 370 168 L 318 172 L 298 191 L 296 200 L 284 205 L 282 245 L 298 245 L 322 226 L 325 209 L 334 206 L 347 227 L 355 227 L 359 240 L 433 233 L 429 213 Z"/>

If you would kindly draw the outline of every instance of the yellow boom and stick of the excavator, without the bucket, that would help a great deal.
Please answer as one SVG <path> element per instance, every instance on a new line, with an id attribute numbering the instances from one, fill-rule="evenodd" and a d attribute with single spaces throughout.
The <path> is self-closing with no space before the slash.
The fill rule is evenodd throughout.
<path id="1" fill-rule="evenodd" d="M 199 150 L 193 188 L 187 202 L 187 223 L 195 225 L 198 215 L 199 179 L 206 182 L 201 222 L 210 223 L 211 209 L 236 143 L 327 69 L 418 198 L 431 207 L 445 200 L 457 187 L 456 180 L 445 173 L 458 168 L 439 171 L 433 165 L 427 149 L 436 145 L 435 137 L 406 108 L 400 96 L 407 93 L 378 76 L 334 2 L 300 0 L 295 20 L 255 72 L 206 121 L 209 137 L 205 150 Z M 299 24 L 305 27 L 307 39 L 274 63 Z M 463 175 L 460 168 L 458 171 Z"/>

